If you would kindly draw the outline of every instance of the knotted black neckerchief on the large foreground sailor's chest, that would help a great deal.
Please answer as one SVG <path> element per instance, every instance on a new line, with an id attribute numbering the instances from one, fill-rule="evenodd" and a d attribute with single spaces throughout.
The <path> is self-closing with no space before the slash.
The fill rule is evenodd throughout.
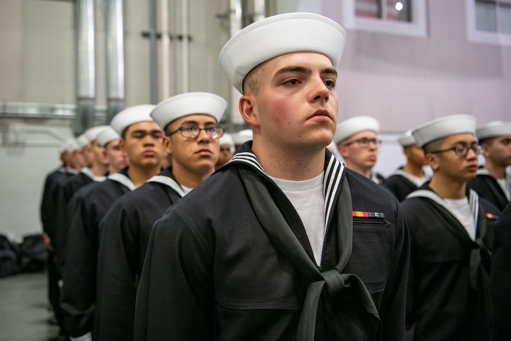
<path id="1" fill-rule="evenodd" d="M 336 219 L 339 259 L 333 269 L 320 272 L 293 234 L 280 210 L 278 210 L 271 194 L 263 183 L 262 176 L 246 168 L 240 168 L 239 172 L 251 207 L 268 238 L 287 261 L 310 282 L 300 313 L 296 340 L 310 341 L 314 339 L 320 296 L 323 295 L 324 298 L 328 299 L 340 294 L 347 288 L 350 288 L 350 293 L 353 294 L 355 301 L 362 305 L 370 318 L 376 319 L 374 320 L 378 326 L 376 335 L 378 335 L 378 339 L 381 339 L 381 321 L 378 310 L 364 283 L 355 275 L 340 273 L 350 259 L 353 240 L 352 200 L 347 181 L 343 181 L 341 193 L 337 200 L 338 214 Z"/>

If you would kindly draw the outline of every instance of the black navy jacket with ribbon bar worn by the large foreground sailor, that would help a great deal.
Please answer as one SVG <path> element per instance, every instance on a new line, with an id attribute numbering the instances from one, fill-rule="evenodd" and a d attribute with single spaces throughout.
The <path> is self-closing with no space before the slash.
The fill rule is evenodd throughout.
<path id="1" fill-rule="evenodd" d="M 250 147 L 155 223 L 134 339 L 403 340 L 409 240 L 396 198 L 326 150 L 317 267 L 298 213 Z"/>

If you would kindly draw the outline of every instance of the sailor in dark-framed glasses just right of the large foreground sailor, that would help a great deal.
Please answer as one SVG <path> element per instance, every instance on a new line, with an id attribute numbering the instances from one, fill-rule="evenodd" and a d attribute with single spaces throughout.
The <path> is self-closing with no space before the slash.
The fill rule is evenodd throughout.
<path id="1" fill-rule="evenodd" d="M 410 230 L 407 325 L 414 340 L 490 340 L 492 203 L 467 188 L 480 147 L 476 120 L 453 115 L 413 129 L 433 169 L 401 203 Z"/>

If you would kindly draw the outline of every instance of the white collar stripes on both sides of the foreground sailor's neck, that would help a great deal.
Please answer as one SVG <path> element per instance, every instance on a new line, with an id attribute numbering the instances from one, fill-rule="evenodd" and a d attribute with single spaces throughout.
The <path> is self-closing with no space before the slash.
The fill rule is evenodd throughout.
<path id="1" fill-rule="evenodd" d="M 255 156 L 253 153 L 242 152 L 235 154 L 229 163 L 230 162 L 241 162 L 247 164 L 263 173 L 268 178 L 268 180 L 273 182 L 273 180 L 271 180 L 268 174 L 266 174 L 264 171 L 264 168 L 257 159 L 257 156 Z M 327 228 L 334 211 L 334 197 L 339 189 L 339 184 L 343 172 L 344 165 L 332 154 L 330 156 L 327 169 L 324 170 L 325 175 L 323 180 L 325 229 Z"/>

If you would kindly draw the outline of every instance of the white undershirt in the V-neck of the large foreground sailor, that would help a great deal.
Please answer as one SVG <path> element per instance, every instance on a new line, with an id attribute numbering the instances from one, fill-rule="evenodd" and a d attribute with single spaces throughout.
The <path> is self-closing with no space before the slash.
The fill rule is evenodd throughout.
<path id="1" fill-rule="evenodd" d="M 305 226 L 316 264 L 321 264 L 324 240 L 324 173 L 305 181 L 290 181 L 270 176 L 286 194 Z"/>

